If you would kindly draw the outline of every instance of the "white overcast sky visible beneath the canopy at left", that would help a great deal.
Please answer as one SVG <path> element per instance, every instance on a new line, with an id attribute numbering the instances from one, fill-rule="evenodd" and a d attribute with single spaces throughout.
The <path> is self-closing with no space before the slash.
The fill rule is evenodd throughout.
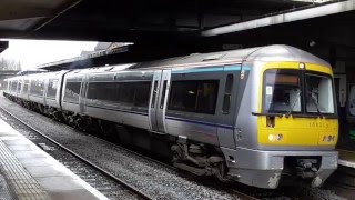
<path id="1" fill-rule="evenodd" d="M 3 39 L 4 40 L 4 39 Z M 21 62 L 22 70 L 80 56 L 81 51 L 92 51 L 98 42 L 53 41 L 53 40 L 9 40 L 9 48 L 0 58 Z"/>

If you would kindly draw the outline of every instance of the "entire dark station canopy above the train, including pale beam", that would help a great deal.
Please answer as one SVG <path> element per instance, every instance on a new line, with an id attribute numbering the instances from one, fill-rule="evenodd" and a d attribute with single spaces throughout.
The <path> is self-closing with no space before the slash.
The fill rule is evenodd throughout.
<path id="1" fill-rule="evenodd" d="M 352 21 L 355 0 L 0 0 L 0 38 L 134 43 L 42 66 L 50 70 L 274 43 L 353 61 Z"/>

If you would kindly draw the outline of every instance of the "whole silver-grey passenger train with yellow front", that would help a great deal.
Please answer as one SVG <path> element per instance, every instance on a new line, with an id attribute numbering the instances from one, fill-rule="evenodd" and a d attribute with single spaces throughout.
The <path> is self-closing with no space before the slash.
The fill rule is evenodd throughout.
<path id="1" fill-rule="evenodd" d="M 291 46 L 18 76 L 3 96 L 222 181 L 321 187 L 337 169 L 332 67 Z"/>

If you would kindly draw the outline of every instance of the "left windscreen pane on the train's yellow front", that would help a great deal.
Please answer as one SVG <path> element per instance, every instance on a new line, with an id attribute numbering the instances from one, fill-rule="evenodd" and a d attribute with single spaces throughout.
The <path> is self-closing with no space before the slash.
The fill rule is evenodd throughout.
<path id="1" fill-rule="evenodd" d="M 264 74 L 264 112 L 301 112 L 300 72 L 267 70 Z"/>

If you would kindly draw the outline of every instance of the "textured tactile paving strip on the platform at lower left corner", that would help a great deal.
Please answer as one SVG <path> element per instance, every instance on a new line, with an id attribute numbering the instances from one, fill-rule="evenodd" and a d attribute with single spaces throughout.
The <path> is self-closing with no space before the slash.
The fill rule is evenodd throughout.
<path id="1" fill-rule="evenodd" d="M 51 199 L 0 140 L 0 170 L 19 200 Z"/>

